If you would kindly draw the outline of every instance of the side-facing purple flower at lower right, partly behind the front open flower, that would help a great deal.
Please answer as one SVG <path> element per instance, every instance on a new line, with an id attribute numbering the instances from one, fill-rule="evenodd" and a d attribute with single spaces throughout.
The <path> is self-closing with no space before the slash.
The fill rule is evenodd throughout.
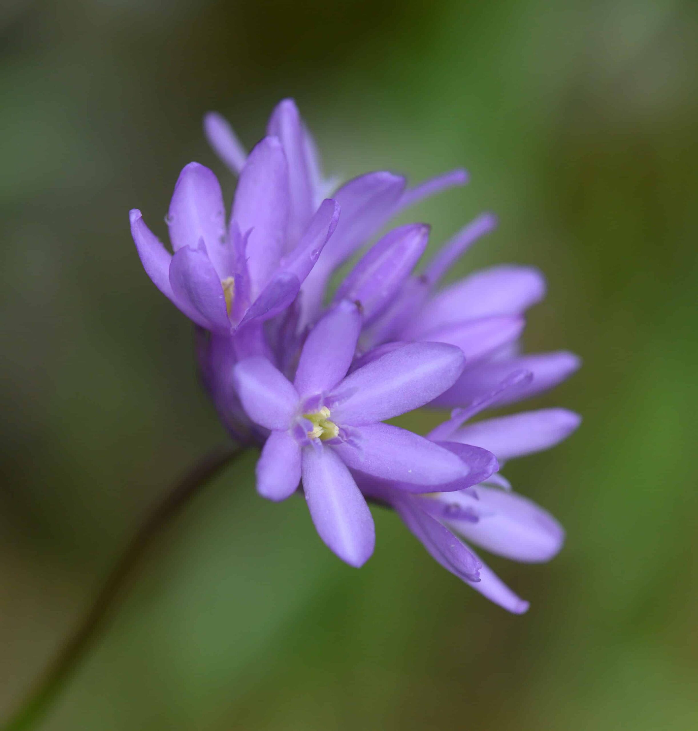
<path id="1" fill-rule="evenodd" d="M 447 439 L 449 444 L 456 442 L 467 449 L 477 444 L 491 450 L 500 463 L 553 447 L 580 424 L 577 414 L 566 409 L 540 409 L 463 426 L 501 395 L 528 382 L 530 373 L 513 374 L 469 409 L 457 409 L 428 438 L 436 443 Z M 504 609 L 523 613 L 528 602 L 504 584 L 460 538 L 513 561 L 539 563 L 549 561 L 562 548 L 564 529 L 541 507 L 508 492 L 509 483 L 501 475 L 488 475 L 482 483 L 458 491 L 411 495 L 403 485 L 368 476 L 359 480 L 364 495 L 394 508 L 441 566 Z"/>

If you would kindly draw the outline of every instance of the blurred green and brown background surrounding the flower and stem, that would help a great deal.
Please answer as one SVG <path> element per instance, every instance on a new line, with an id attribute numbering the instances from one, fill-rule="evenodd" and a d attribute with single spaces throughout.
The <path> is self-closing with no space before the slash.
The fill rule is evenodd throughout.
<path id="1" fill-rule="evenodd" d="M 72 628 L 140 515 L 224 431 L 191 331 L 127 226 L 162 216 L 202 140 L 247 145 L 295 96 L 325 168 L 471 183 L 410 219 L 501 227 L 453 277 L 545 270 L 529 349 L 584 368 L 531 402 L 583 428 L 507 466 L 568 530 L 493 567 L 509 616 L 376 510 L 375 556 L 326 550 L 253 459 L 170 526 L 51 731 L 698 727 L 698 4 L 690 0 L 4 0 L 0 5 L 0 711 Z M 407 219 L 406 219 L 407 220 Z M 426 428 L 433 416 L 411 420 Z"/>

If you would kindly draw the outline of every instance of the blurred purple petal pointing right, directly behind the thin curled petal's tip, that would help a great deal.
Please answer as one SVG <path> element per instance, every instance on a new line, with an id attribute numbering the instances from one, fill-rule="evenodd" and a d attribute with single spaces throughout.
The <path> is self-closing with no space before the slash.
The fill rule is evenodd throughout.
<path id="1" fill-rule="evenodd" d="M 435 398 L 432 406 L 462 406 L 470 401 L 496 389 L 507 376 L 515 371 L 531 371 L 533 379 L 527 385 L 502 393 L 493 405 L 515 404 L 524 398 L 530 398 L 542 391 L 564 381 L 580 367 L 580 359 L 573 353 L 559 351 L 522 355 L 509 360 L 477 363 L 473 368 L 466 368 L 455 385 Z"/>

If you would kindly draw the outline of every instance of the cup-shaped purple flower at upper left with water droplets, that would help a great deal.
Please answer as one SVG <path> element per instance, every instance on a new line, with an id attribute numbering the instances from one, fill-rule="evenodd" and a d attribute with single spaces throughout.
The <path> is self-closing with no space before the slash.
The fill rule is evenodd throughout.
<path id="1" fill-rule="evenodd" d="M 191 162 L 179 176 L 167 215 L 173 255 L 140 211 L 131 211 L 145 271 L 200 327 L 232 333 L 259 325 L 295 300 L 335 230 L 340 209 L 334 200 L 323 201 L 295 238 L 289 229 L 289 184 L 281 143 L 265 137 L 240 176 L 227 224 L 216 176 Z"/>

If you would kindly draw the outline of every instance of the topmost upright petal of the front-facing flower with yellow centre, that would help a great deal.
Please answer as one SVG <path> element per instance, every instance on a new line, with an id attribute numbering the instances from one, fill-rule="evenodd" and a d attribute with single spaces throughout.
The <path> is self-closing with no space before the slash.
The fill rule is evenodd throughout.
<path id="1" fill-rule="evenodd" d="M 325 393 L 346 376 L 352 364 L 361 316 L 352 302 L 341 302 L 311 330 L 296 371 L 294 385 L 301 398 Z"/>

